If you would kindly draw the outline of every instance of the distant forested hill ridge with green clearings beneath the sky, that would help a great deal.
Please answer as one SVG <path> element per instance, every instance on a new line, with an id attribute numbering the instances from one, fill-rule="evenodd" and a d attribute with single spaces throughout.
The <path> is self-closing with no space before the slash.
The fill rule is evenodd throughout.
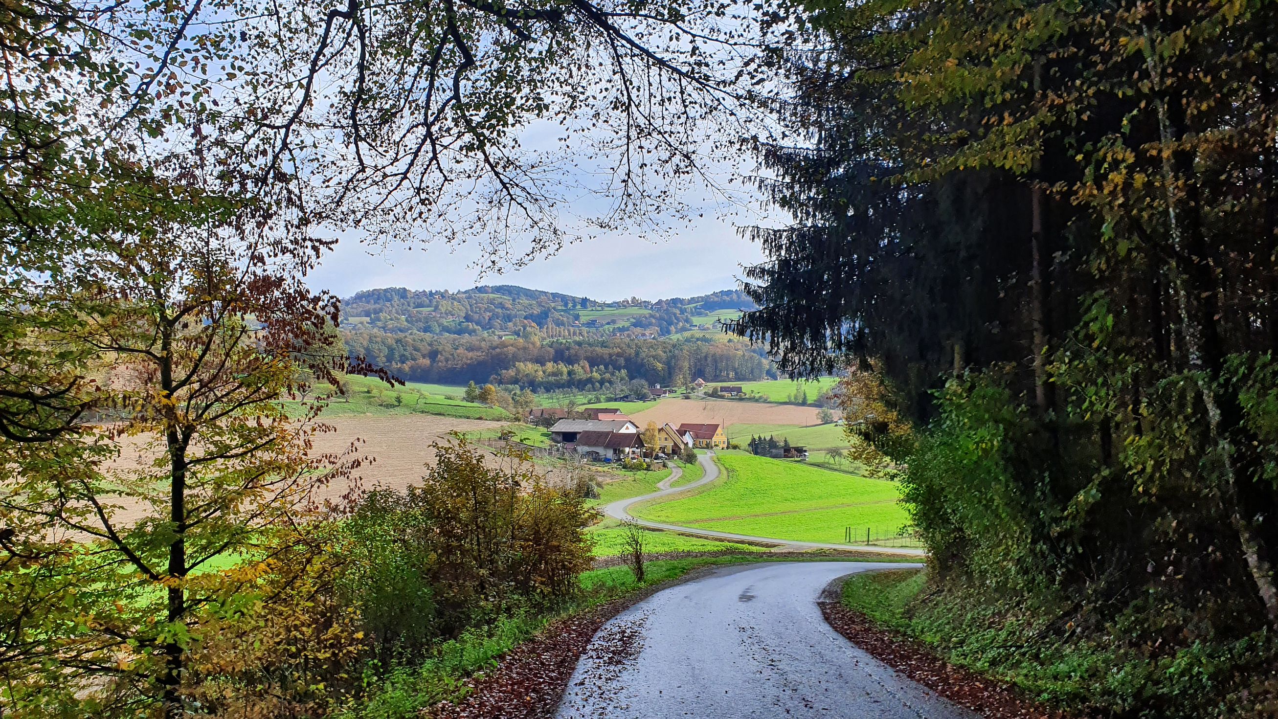
<path id="1" fill-rule="evenodd" d="M 667 337 L 713 329 L 721 319 L 757 309 L 744 292 L 723 290 L 695 298 L 598 301 L 514 285 L 486 285 L 452 292 L 385 287 L 343 300 L 348 329 L 427 335 L 543 337 Z"/>

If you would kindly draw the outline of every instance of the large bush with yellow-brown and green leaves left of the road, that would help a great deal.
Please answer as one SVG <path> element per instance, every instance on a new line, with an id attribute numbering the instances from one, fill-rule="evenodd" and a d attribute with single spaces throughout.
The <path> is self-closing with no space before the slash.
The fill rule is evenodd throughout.
<path id="1" fill-rule="evenodd" d="M 403 715 L 455 693 L 454 664 L 488 662 L 530 631 L 525 617 L 576 598 L 590 562 L 580 497 L 521 456 L 435 448 L 422 487 L 374 489 L 231 570 L 244 589 L 206 605 L 184 676 L 203 714 L 320 716 L 374 688 L 373 714 Z"/>

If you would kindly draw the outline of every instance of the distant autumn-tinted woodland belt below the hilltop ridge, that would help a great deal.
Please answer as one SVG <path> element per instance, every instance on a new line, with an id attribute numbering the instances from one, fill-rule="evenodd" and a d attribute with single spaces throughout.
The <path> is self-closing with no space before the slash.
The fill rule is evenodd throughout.
<path id="1" fill-rule="evenodd" d="M 707 382 L 764 379 L 772 372 L 762 350 L 709 338 L 542 340 L 539 336 L 437 336 L 357 329 L 346 350 L 413 382 L 492 382 L 534 391 L 597 391 L 617 382 L 682 387 Z"/>

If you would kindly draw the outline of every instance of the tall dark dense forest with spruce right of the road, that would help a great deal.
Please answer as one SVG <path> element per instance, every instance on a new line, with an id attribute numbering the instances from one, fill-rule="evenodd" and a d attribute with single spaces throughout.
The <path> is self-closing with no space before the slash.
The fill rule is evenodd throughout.
<path id="1" fill-rule="evenodd" d="M 930 631 L 1024 650 L 966 647 L 985 663 L 1075 651 L 1074 700 L 1111 715 L 1259 710 L 1278 5 L 812 9 L 787 103 L 812 143 L 760 147 L 796 222 L 755 231 L 736 331 L 861 370 L 882 412 L 854 427 L 907 465 L 930 596 L 985 612 Z"/>

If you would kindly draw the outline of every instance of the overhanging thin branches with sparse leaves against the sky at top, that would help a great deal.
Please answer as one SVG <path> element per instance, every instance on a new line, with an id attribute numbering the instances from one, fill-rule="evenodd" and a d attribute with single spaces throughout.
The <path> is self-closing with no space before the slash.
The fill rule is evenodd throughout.
<path id="1" fill-rule="evenodd" d="M 714 148 L 766 132 L 751 80 L 780 22 L 725 0 L 19 9 L 15 69 L 78 103 L 86 142 L 199 166 L 308 227 L 487 238 L 489 269 L 721 184 Z"/>

